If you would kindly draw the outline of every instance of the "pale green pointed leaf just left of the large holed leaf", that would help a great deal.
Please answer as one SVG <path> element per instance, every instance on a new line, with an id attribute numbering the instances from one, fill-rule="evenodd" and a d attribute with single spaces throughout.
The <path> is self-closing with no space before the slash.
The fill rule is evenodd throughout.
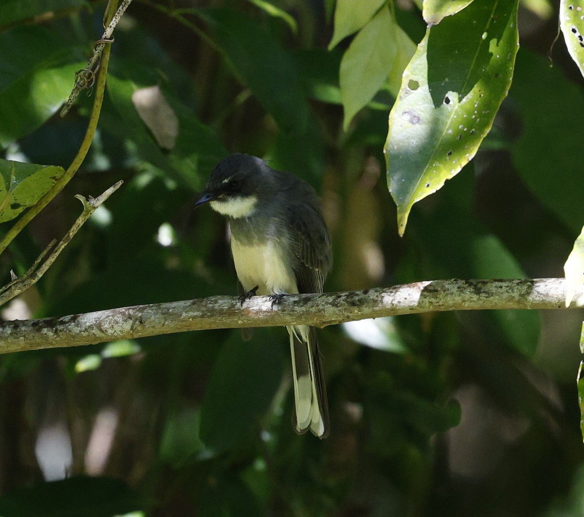
<path id="1" fill-rule="evenodd" d="M 387 7 L 359 31 L 340 62 L 345 131 L 354 115 L 373 99 L 388 77 L 397 91 L 415 48 Z"/>

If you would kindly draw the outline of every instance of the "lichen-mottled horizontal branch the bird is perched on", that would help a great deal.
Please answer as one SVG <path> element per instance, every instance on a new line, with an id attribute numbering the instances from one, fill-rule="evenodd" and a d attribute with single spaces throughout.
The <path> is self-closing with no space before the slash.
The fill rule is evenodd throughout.
<path id="1" fill-rule="evenodd" d="M 292 294 L 272 308 L 267 296 L 233 296 L 121 307 L 94 313 L 0 324 L 0 353 L 89 345 L 213 328 L 308 324 L 433 311 L 557 309 L 565 307 L 563 278 L 536 280 L 432 280 L 395 287 L 324 294 Z M 578 287 L 575 300 L 584 299 Z M 571 307 L 578 307 L 575 301 Z"/>

